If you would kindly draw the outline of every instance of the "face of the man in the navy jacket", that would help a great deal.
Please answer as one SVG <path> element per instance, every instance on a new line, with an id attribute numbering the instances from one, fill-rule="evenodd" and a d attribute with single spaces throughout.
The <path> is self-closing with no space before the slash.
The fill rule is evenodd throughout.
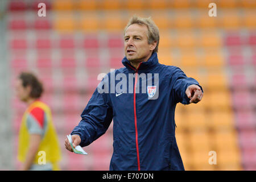
<path id="1" fill-rule="evenodd" d="M 146 25 L 131 24 L 125 32 L 125 56 L 134 62 L 147 61 L 155 49 L 154 44 L 148 44 Z M 155 44 L 156 45 L 156 44 Z"/>

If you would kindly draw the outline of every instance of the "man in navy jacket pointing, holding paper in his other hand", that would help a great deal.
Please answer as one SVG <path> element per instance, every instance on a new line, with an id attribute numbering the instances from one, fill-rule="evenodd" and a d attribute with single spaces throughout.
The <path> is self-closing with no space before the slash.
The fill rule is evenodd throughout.
<path id="1" fill-rule="evenodd" d="M 101 81 L 107 92 L 99 93 L 96 89 L 81 114 L 81 122 L 71 133 L 73 146 L 88 146 L 108 130 L 113 119 L 114 150 L 110 170 L 184 170 L 175 138 L 175 107 L 179 102 L 200 102 L 203 89 L 180 68 L 158 63 L 159 30 L 150 18 L 131 18 L 124 40 L 122 63 L 125 68 L 115 70 L 114 78 L 120 73 L 126 78 L 130 73 L 135 75 L 133 93 L 127 90 L 110 93 L 105 86 L 111 88 L 114 82 L 117 88 L 119 82 L 111 80 L 113 73 L 108 73 Z M 159 81 L 147 86 L 147 93 L 137 93 L 137 73 L 151 73 L 152 79 L 156 79 L 156 73 Z M 142 85 L 139 84 L 139 90 Z M 159 96 L 149 99 L 155 96 L 156 89 Z M 73 151 L 68 139 L 65 147 Z"/>

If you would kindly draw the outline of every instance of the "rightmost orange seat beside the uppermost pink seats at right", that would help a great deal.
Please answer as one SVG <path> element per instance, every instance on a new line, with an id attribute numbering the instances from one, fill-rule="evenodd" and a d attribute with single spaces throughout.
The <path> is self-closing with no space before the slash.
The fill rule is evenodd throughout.
<path id="1" fill-rule="evenodd" d="M 199 34 L 199 45 L 201 47 L 220 47 L 221 35 L 217 31 L 201 31 Z"/>

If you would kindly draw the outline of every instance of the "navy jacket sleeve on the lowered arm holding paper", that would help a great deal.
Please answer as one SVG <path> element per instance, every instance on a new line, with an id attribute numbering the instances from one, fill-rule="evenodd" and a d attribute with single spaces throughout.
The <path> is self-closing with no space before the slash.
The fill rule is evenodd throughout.
<path id="1" fill-rule="evenodd" d="M 88 146 L 108 130 L 113 119 L 113 111 L 107 100 L 108 94 L 98 93 L 96 89 L 82 111 L 82 119 L 71 133 L 80 135 L 81 147 Z"/>

